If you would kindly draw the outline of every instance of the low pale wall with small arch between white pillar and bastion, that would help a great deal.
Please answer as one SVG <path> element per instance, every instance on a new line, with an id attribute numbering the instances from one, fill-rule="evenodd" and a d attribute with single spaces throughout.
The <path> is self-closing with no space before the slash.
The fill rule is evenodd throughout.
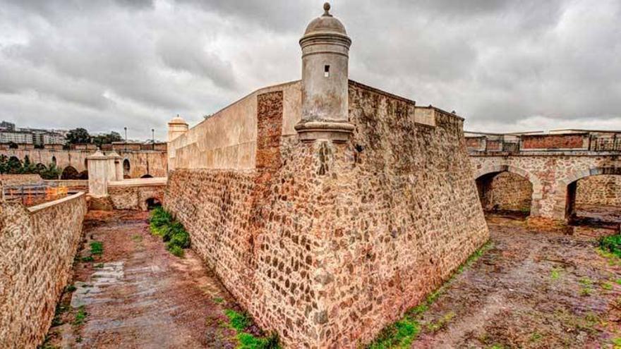
<path id="1" fill-rule="evenodd" d="M 143 178 L 108 183 L 108 194 L 114 209 L 147 210 L 147 200 L 164 202 L 167 178 Z"/>

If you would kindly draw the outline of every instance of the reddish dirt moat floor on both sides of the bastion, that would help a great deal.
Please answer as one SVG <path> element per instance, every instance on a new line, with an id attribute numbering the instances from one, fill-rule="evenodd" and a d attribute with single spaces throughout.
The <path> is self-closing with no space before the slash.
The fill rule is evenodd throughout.
<path id="1" fill-rule="evenodd" d="M 411 348 L 621 344 L 621 259 L 597 244 L 613 230 L 579 226 L 571 235 L 529 228 L 519 215 L 487 220 L 491 238 L 480 257 L 411 312 Z M 147 213 L 89 212 L 84 225 L 71 286 L 44 348 L 240 345 L 227 316 L 241 313 L 239 306 L 194 252 L 178 258 L 165 250 Z M 101 255 L 92 254 L 94 241 L 102 243 Z M 251 324 L 245 332 L 263 336 Z M 399 348 L 385 343 L 375 345 Z"/>

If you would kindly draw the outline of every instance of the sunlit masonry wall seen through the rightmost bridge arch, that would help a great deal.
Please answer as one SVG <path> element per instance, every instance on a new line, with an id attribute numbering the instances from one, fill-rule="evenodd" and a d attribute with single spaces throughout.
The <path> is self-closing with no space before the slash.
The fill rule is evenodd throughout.
<path id="1" fill-rule="evenodd" d="M 591 176 L 578 181 L 576 204 L 621 207 L 621 176 Z"/>

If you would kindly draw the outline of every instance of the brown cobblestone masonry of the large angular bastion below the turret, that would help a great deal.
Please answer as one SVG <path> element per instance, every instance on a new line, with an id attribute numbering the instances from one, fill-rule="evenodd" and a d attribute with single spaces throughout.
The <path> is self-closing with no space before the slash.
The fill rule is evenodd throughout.
<path id="1" fill-rule="evenodd" d="M 289 348 L 368 343 L 488 238 L 462 120 L 415 124 L 413 102 L 355 82 L 349 99 L 347 144 L 276 142 L 270 93 L 255 171 L 169 176 L 165 206 L 193 248 Z"/>

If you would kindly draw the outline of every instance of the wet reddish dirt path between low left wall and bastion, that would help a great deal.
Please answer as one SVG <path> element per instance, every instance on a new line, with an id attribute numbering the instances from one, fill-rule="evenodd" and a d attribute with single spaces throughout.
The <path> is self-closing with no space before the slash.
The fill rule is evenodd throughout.
<path id="1" fill-rule="evenodd" d="M 101 255 L 92 254 L 94 241 Z M 235 331 L 223 325 L 224 310 L 238 308 L 231 295 L 191 250 L 184 258 L 167 252 L 147 214 L 89 212 L 84 245 L 50 347 L 236 347 Z"/>

